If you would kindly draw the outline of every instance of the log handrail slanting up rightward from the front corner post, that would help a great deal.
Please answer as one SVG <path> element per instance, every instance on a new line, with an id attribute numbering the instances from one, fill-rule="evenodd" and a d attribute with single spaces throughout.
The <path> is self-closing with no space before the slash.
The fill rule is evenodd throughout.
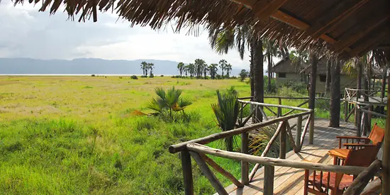
<path id="1" fill-rule="evenodd" d="M 186 145 L 189 143 L 200 143 L 200 144 L 211 143 L 215 140 L 220 140 L 222 138 L 228 138 L 228 137 L 233 136 L 233 135 L 240 135 L 241 133 L 249 132 L 250 130 L 262 128 L 264 126 L 269 126 L 273 123 L 279 123 L 281 121 L 289 120 L 290 118 L 296 118 L 298 116 L 305 116 L 305 115 L 313 113 L 313 110 L 311 110 L 311 109 L 307 109 L 307 110 L 308 111 L 305 111 L 302 113 L 295 113 L 295 114 L 291 114 L 289 116 L 274 118 L 274 119 L 269 120 L 269 121 L 255 123 L 255 124 L 252 124 L 250 126 L 244 126 L 242 128 L 236 128 L 236 129 L 224 131 L 221 133 L 214 133 L 214 134 L 208 135 L 204 138 L 198 138 L 198 139 L 186 141 L 184 143 L 178 143 L 175 145 L 171 145 L 171 146 L 169 146 L 169 152 L 171 152 L 171 153 L 180 152 L 180 151 L 184 150 L 186 148 Z"/>

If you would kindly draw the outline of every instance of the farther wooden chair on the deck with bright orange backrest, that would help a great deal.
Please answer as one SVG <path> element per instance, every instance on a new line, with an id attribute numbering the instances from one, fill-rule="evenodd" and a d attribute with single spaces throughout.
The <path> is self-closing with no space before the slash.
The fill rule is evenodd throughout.
<path id="1" fill-rule="evenodd" d="M 380 145 L 384 140 L 384 128 L 381 128 L 377 126 L 377 123 L 374 124 L 374 127 L 371 130 L 371 133 L 369 133 L 368 138 L 362 138 L 362 137 L 355 137 L 355 136 L 337 136 L 336 138 L 339 139 L 339 145 L 337 149 L 329 150 L 328 154 L 335 157 L 334 159 L 334 165 L 338 165 L 338 160 L 345 161 L 345 158 L 347 157 L 347 153 L 349 152 L 349 148 L 352 150 L 362 149 L 363 147 L 377 147 L 377 145 Z M 345 143 L 342 142 L 342 140 L 346 140 Z M 348 141 L 351 140 L 351 143 L 348 143 Z M 344 146 L 345 148 L 342 148 Z M 377 155 L 379 150 L 375 153 Z"/>

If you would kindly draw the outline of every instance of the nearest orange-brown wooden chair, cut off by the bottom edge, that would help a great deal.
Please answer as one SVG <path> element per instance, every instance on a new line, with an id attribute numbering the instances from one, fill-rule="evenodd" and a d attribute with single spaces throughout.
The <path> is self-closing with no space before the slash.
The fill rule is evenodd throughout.
<path id="1" fill-rule="evenodd" d="M 364 147 L 359 150 L 347 149 L 347 157 L 345 159 L 344 166 L 360 166 L 368 167 L 371 162 L 377 157 L 376 153 L 379 150 L 377 147 Z M 305 183 L 303 194 L 307 195 L 308 192 L 318 195 L 329 194 L 332 195 L 342 194 L 354 179 L 353 175 L 333 173 L 333 172 L 316 172 L 309 174 L 309 170 L 305 170 Z"/>

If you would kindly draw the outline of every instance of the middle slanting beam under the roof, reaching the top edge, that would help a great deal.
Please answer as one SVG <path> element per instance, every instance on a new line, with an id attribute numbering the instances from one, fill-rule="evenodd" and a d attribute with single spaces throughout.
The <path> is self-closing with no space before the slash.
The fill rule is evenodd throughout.
<path id="1" fill-rule="evenodd" d="M 369 0 L 340 1 L 338 5 L 332 6 L 325 15 L 318 18 L 318 20 L 306 30 L 306 33 L 313 38 L 319 38 L 320 35 L 326 33 L 330 26 L 333 26 L 350 16 L 351 13 L 362 7 L 367 1 Z"/>

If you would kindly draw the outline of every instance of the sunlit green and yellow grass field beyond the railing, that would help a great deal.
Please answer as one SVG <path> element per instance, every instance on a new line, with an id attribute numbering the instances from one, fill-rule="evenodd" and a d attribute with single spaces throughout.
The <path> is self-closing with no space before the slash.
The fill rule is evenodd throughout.
<path id="1" fill-rule="evenodd" d="M 190 122 L 131 114 L 151 112 L 155 87 L 172 86 L 194 102 Z M 0 194 L 183 194 L 179 154 L 167 148 L 219 132 L 211 104 L 216 89 L 231 86 L 250 95 L 249 84 L 235 79 L 0 77 Z M 298 95 L 291 93 L 284 89 Z M 240 178 L 240 162 L 214 160 Z M 196 194 L 213 193 L 195 163 L 193 171 Z"/>

